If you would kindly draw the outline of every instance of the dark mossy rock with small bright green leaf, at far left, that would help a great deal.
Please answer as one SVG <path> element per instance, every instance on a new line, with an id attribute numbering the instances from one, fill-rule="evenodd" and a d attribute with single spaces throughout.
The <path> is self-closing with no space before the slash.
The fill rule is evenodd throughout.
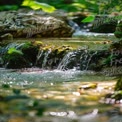
<path id="1" fill-rule="evenodd" d="M 6 68 L 32 67 L 36 61 L 38 47 L 32 43 L 10 43 L 1 49 L 3 65 Z"/>

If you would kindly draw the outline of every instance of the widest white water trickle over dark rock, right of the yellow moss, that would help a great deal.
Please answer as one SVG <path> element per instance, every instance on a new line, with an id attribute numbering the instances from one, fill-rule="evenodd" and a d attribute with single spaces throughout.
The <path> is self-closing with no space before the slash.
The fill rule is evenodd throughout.
<path id="1" fill-rule="evenodd" d="M 77 69 L 77 70 L 90 70 L 91 64 L 94 64 L 95 56 L 98 51 L 90 51 L 88 49 L 77 49 L 67 53 L 62 61 L 59 63 L 57 69 Z M 97 60 L 97 59 L 96 59 Z"/>

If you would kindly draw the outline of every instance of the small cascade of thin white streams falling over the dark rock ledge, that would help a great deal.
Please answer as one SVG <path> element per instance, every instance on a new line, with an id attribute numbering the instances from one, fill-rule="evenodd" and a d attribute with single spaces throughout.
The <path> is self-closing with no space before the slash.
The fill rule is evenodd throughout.
<path id="1" fill-rule="evenodd" d="M 89 49 L 76 49 L 70 50 L 64 55 L 58 55 L 55 58 L 52 55 L 56 54 L 52 49 L 41 50 L 37 55 L 36 65 L 45 69 L 45 68 L 56 68 L 58 70 L 92 70 L 91 64 L 96 65 L 96 58 L 98 51 L 91 51 Z M 61 57 L 60 57 L 61 56 Z M 52 61 L 51 63 L 49 63 Z M 55 65 L 55 67 L 54 67 Z"/>

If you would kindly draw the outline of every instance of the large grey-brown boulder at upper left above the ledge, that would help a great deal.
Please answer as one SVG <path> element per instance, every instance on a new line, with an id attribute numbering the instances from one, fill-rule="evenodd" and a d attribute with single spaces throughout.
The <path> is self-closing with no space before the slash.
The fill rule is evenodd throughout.
<path id="1" fill-rule="evenodd" d="M 13 37 L 70 37 L 72 28 L 57 17 L 42 11 L 0 12 L 0 36 Z"/>

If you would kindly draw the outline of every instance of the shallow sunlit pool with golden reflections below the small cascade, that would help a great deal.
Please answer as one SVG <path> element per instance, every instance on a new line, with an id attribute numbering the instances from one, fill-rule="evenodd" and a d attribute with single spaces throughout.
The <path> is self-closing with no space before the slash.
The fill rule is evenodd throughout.
<path id="1" fill-rule="evenodd" d="M 113 112 L 116 117 L 121 109 L 121 107 L 117 109 L 114 105 L 100 102 L 105 94 L 113 91 L 115 85 L 113 79 L 113 77 L 104 77 L 91 71 L 84 72 L 74 69 L 67 71 L 49 71 L 38 68 L 26 69 L 25 71 L 0 70 L 0 84 L 9 84 L 10 89 L 20 89 L 22 95 L 39 100 L 41 105 L 45 107 L 46 111 L 41 119 L 38 117 L 34 119 L 33 111 L 31 111 L 32 115 L 30 112 L 27 118 L 21 115 L 26 120 L 33 118 L 35 122 L 37 118 L 40 122 L 53 122 L 54 118 L 56 121 L 62 122 L 63 119 L 66 122 L 86 122 L 87 119 L 89 122 L 91 122 L 90 120 L 93 122 L 108 122 L 112 119 Z M 87 89 L 87 85 L 94 83 L 97 84 L 97 87 Z M 86 87 L 86 89 L 79 89 L 80 87 Z M 11 96 L 13 93 L 10 89 L 1 88 L 1 95 Z M 25 101 L 27 101 L 25 104 L 31 104 L 32 102 L 32 100 Z M 10 100 L 9 104 L 13 106 L 18 103 L 14 102 L 13 104 Z M 2 109 L 3 107 L 0 108 Z M 10 112 L 11 110 L 9 108 L 4 111 Z M 17 112 L 13 111 L 9 113 L 9 116 L 15 114 L 18 117 Z M 23 113 L 23 111 L 20 113 Z M 13 118 L 16 119 L 16 116 Z"/>

